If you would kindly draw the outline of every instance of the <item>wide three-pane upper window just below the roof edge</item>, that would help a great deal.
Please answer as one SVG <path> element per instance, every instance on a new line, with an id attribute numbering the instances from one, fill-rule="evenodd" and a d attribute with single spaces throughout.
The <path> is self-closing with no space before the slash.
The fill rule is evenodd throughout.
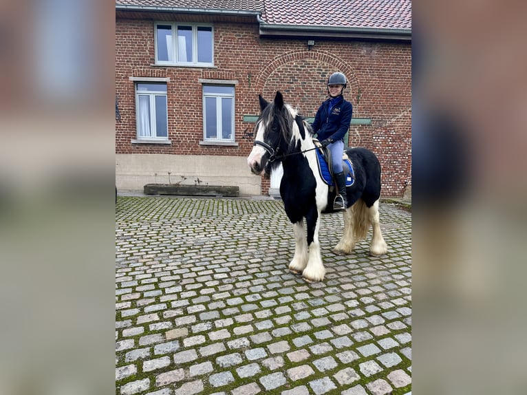
<path id="1" fill-rule="evenodd" d="M 212 66 L 213 28 L 207 25 L 155 23 L 155 63 Z"/>

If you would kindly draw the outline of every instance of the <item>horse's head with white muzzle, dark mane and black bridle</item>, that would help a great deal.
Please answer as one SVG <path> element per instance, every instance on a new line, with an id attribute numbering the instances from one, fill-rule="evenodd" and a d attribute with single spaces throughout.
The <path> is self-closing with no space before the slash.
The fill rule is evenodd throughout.
<path id="1" fill-rule="evenodd" d="M 247 163 L 252 173 L 269 176 L 278 166 L 280 156 L 290 150 L 294 117 L 297 115 L 289 105 L 283 103 L 283 96 L 277 92 L 275 100 L 269 103 L 258 95 L 261 114 L 255 125 L 255 143 Z"/>

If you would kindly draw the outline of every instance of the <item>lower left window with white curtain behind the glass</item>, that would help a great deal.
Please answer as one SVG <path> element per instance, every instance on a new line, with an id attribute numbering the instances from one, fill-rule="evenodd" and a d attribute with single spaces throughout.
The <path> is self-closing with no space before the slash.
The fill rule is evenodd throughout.
<path id="1" fill-rule="evenodd" d="M 136 84 L 138 140 L 168 140 L 166 83 Z"/>

